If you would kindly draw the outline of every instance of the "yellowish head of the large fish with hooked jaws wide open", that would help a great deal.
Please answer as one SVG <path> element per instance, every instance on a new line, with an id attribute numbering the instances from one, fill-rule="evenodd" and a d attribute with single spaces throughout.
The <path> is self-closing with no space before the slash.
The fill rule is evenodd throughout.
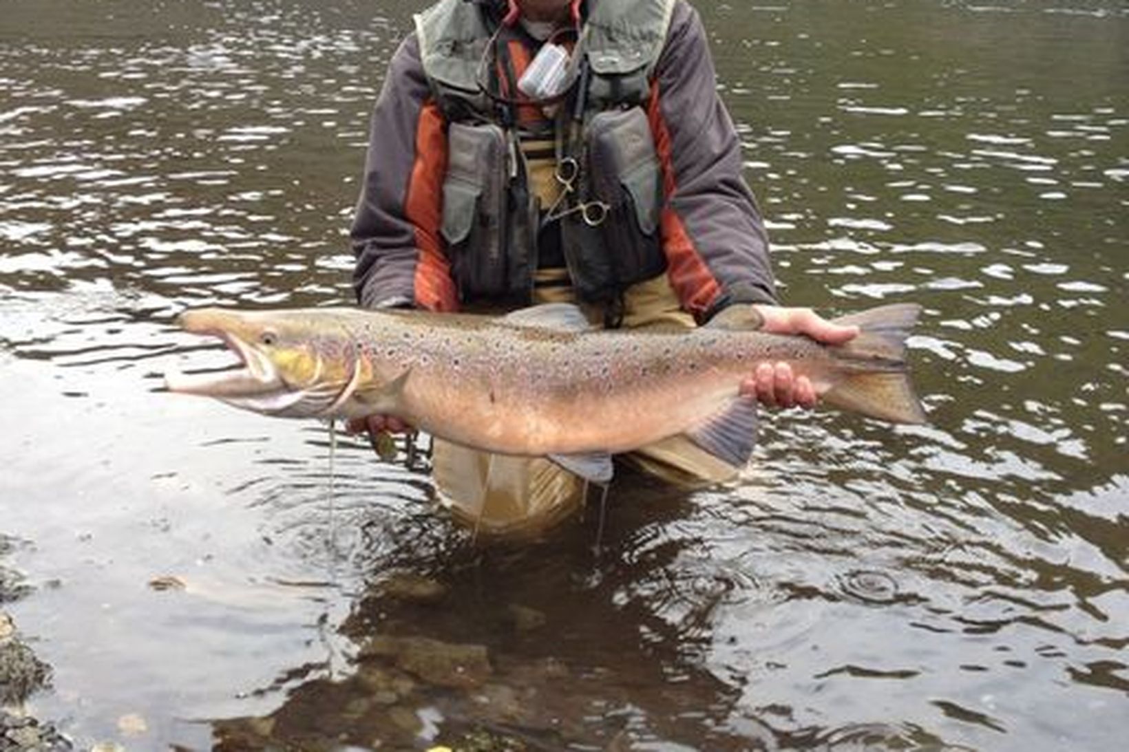
<path id="1" fill-rule="evenodd" d="M 211 396 L 255 412 L 307 418 L 327 414 L 350 388 L 359 360 L 316 312 L 201 308 L 177 317 L 193 334 L 218 336 L 239 359 L 235 369 L 170 370 L 170 392 Z"/>

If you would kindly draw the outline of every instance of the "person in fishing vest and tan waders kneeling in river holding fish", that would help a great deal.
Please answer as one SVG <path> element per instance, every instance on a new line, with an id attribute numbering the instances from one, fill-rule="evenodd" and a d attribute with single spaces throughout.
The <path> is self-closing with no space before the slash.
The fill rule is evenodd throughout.
<path id="1" fill-rule="evenodd" d="M 739 305 L 768 332 L 856 334 L 776 305 L 741 143 L 685 0 L 440 0 L 417 16 L 376 103 L 351 237 L 371 308 L 576 301 L 604 326 L 693 327 Z M 817 399 L 785 364 L 760 364 L 742 392 Z M 627 458 L 684 484 L 737 471 L 681 436 Z M 434 470 L 484 532 L 537 530 L 584 500 L 584 482 L 544 458 L 436 440 Z"/>

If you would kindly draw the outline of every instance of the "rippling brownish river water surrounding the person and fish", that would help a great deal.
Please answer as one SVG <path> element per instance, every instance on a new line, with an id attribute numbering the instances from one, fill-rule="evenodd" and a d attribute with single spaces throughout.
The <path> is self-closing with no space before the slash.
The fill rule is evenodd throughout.
<path id="1" fill-rule="evenodd" d="M 782 295 L 921 303 L 930 423 L 769 416 L 732 488 L 616 487 L 598 556 L 594 515 L 471 545 L 353 439 L 331 497 L 323 426 L 156 391 L 226 361 L 186 307 L 351 301 L 418 5 L 0 3 L 28 709 L 129 749 L 1121 749 L 1124 5 L 698 3 Z"/>

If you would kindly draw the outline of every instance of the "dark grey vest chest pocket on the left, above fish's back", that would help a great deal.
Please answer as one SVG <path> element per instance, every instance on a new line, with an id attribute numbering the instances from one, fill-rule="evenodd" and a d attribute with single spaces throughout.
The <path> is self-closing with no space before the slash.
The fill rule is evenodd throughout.
<path id="1" fill-rule="evenodd" d="M 452 123 L 447 131 L 440 234 L 461 295 L 507 289 L 507 143 L 493 124 Z"/>

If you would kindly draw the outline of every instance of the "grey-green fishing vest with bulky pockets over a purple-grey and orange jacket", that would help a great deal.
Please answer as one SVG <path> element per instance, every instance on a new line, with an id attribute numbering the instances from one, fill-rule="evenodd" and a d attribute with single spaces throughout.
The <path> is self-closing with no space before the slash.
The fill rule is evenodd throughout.
<path id="1" fill-rule="evenodd" d="M 423 71 L 447 122 L 440 233 L 464 301 L 531 298 L 546 204 L 581 300 L 614 307 L 627 287 L 666 269 L 646 104 L 674 3 L 588 1 L 574 49 L 577 79 L 548 134 L 555 181 L 531 169 L 546 157 L 545 134 L 523 132 L 483 90 L 483 69 L 497 64 L 497 19 L 467 0 L 440 0 L 415 16 Z"/>

